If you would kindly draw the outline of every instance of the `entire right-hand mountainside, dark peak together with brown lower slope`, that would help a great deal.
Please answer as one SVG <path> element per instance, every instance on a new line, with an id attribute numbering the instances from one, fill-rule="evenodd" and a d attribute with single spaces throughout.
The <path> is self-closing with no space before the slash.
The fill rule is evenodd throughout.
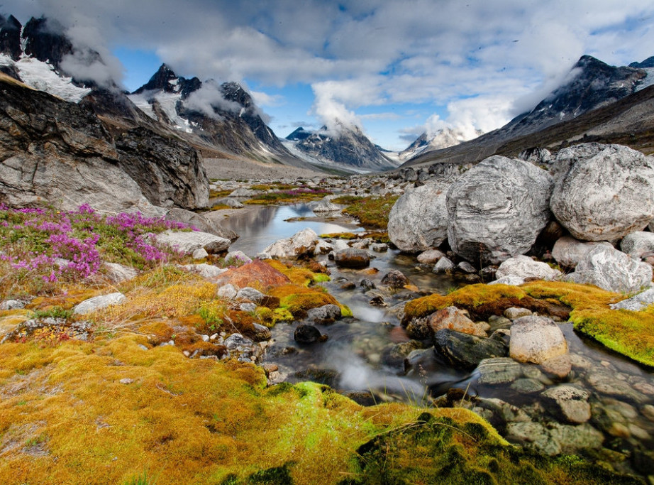
<path id="1" fill-rule="evenodd" d="M 649 67 L 653 63 L 654 58 L 649 58 L 614 67 L 584 55 L 567 80 L 531 111 L 473 140 L 417 153 L 404 165 L 474 163 L 496 153 L 516 155 L 533 147 L 557 150 L 580 140 L 625 143 L 646 151 L 654 136 L 648 128 L 654 111 L 646 109 L 654 82 Z M 631 119 L 627 111 L 638 111 L 642 117 Z"/>

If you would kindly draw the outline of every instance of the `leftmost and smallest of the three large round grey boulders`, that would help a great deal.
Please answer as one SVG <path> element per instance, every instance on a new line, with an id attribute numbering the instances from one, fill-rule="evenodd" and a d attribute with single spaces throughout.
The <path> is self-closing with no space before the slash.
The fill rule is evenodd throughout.
<path id="1" fill-rule="evenodd" d="M 447 186 L 429 183 L 407 189 L 391 209 L 389 239 L 400 251 L 417 253 L 448 237 Z"/>

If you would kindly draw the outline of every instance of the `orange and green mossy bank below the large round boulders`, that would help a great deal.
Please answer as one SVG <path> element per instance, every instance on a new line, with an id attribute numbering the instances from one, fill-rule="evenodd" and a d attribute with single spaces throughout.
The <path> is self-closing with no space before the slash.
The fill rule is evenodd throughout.
<path id="1" fill-rule="evenodd" d="M 450 305 L 475 318 L 501 315 L 511 306 L 570 320 L 575 329 L 641 364 L 654 366 L 654 308 L 611 310 L 626 298 L 592 285 L 538 281 L 521 286 L 470 285 L 449 295 L 430 295 L 406 304 L 404 323 Z"/>

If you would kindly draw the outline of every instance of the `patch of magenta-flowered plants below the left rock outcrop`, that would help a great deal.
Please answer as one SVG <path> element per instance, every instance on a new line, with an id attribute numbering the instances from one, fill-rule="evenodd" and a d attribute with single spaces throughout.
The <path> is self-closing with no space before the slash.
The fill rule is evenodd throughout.
<path id="1" fill-rule="evenodd" d="M 93 276 L 104 261 L 138 269 L 176 261 L 181 254 L 148 238 L 167 229 L 191 228 L 140 212 L 102 215 L 89 205 L 71 212 L 0 205 L 0 293 L 26 280 L 47 293 Z"/>

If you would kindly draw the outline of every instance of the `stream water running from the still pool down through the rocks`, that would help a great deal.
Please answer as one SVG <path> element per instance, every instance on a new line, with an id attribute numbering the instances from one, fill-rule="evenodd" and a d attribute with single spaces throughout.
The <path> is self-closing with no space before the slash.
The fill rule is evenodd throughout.
<path id="1" fill-rule="evenodd" d="M 240 250 L 250 256 L 256 255 L 277 239 L 292 236 L 306 227 L 314 229 L 317 234 L 362 231 L 351 219 L 314 217 L 306 205 L 248 209 L 242 215 L 236 212 L 221 221 L 221 224 L 240 234 L 240 238 L 230 250 Z M 299 345 L 294 341 L 294 330 L 301 322 L 278 324 L 272 329 L 272 342 L 267 347 L 265 361 L 277 364 L 280 373 L 288 381 L 318 381 L 344 392 L 370 392 L 375 399 L 382 400 L 401 399 L 426 403 L 425 398 L 430 394 L 437 397 L 450 387 L 458 387 L 465 389 L 469 395 L 490 398 L 488 402 L 501 399 L 524 409 L 528 413 L 527 418 L 520 419 L 544 423 L 543 429 L 558 426 L 559 423 L 566 429 L 572 428 L 571 423 L 562 418 L 553 400 L 543 398 L 543 390 L 560 383 L 550 381 L 538 370 L 538 366 L 523 365 L 523 375 L 519 381 L 489 385 L 478 382 L 479 371 L 453 369 L 451 366 L 440 364 L 428 352 L 425 354 L 428 356 L 426 361 L 419 367 L 420 370 L 414 369 L 408 375 L 405 374 L 401 361 L 387 359 L 394 342 L 403 341 L 399 317 L 396 312 L 389 310 L 397 303 L 416 298 L 418 295 L 406 290 L 390 294 L 379 293 L 383 295 L 388 307 L 375 307 L 370 305 L 371 298 L 376 295 L 375 290 L 365 292 L 360 287 L 360 281 L 367 278 L 379 285 L 384 274 L 398 269 L 419 288 L 421 294 L 445 294 L 456 288 L 458 282 L 449 276 L 432 273 L 430 268 L 417 263 L 415 256 L 392 250 L 375 256 L 370 264 L 371 268 L 378 270 L 375 274 L 371 271 L 339 269 L 333 262 L 328 262 L 332 280 L 323 285 L 340 303 L 350 307 L 353 318 L 346 318 L 332 325 L 318 325 L 321 332 L 328 335 L 328 339 L 310 346 Z M 326 261 L 326 256 L 320 256 L 319 259 Z M 349 289 L 343 288 L 346 280 L 355 283 L 355 288 L 351 288 L 351 285 Z M 631 454 L 632 457 L 640 453 L 638 450 L 643 447 L 652 449 L 652 369 L 644 369 L 623 356 L 580 337 L 571 324 L 562 324 L 560 327 L 567 339 L 573 362 L 573 371 L 566 383 L 587 391 L 590 396 L 588 402 L 592 406 L 593 417 L 581 427 L 592 426 L 599 430 L 600 434 L 600 437 L 595 437 L 597 443 L 589 445 L 583 442 L 578 447 L 609 447 L 612 451 Z M 521 385 L 518 386 L 518 383 Z M 497 416 L 497 412 L 495 415 Z M 492 415 L 487 415 L 487 418 L 493 422 Z M 504 429 L 502 426 L 510 422 L 511 419 L 506 418 L 505 422 L 499 423 L 499 427 Z M 509 439 L 511 440 L 510 433 Z M 526 438 L 527 443 L 530 440 L 531 437 Z M 544 444 L 534 446 L 547 447 L 547 442 L 551 440 L 553 438 L 548 438 Z M 514 441 L 525 444 L 525 440 L 516 438 Z M 533 438 L 533 441 L 536 442 L 536 438 Z M 564 447 L 567 452 L 573 452 L 575 449 Z M 642 454 L 638 454 L 638 457 L 641 456 Z M 654 456 L 650 454 L 647 459 L 653 460 L 654 464 Z M 628 464 L 616 466 L 633 472 Z M 642 470 L 637 472 L 649 474 Z"/>

